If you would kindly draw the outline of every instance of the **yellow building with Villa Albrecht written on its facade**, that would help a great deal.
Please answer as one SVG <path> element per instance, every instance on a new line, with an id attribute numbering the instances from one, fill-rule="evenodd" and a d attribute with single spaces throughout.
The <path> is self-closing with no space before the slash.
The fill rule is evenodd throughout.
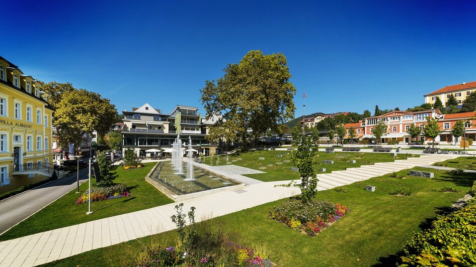
<path id="1" fill-rule="evenodd" d="M 52 108 L 40 83 L 0 57 L 0 193 L 52 175 Z"/>

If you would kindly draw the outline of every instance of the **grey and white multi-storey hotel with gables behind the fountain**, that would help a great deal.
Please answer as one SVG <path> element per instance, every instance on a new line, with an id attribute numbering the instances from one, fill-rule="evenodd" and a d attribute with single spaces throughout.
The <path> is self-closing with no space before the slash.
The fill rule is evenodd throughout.
<path id="1" fill-rule="evenodd" d="M 207 128 L 197 110 L 197 107 L 177 105 L 172 112 L 164 113 L 147 103 L 133 107 L 132 111 L 124 110 L 123 150 L 132 148 L 138 156 L 148 156 L 148 149 L 167 151 L 180 134 L 182 143 L 187 145 L 190 136 L 192 148 L 202 155 L 220 153 L 217 143 L 205 139 Z"/>

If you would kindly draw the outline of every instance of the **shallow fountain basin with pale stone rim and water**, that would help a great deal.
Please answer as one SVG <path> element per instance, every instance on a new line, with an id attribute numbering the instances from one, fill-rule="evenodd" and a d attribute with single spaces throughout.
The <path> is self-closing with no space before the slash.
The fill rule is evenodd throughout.
<path id="1" fill-rule="evenodd" d="M 145 180 L 176 202 L 245 186 L 196 165 L 193 169 L 195 179 L 187 181 L 186 174 L 175 174 L 170 161 L 157 162 Z"/>

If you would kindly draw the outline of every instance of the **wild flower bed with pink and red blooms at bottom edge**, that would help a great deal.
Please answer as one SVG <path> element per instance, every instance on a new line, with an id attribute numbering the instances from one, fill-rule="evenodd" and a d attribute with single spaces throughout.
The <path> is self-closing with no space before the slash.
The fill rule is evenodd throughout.
<path id="1" fill-rule="evenodd" d="M 263 252 L 226 241 L 219 253 L 184 253 L 180 247 L 147 247 L 135 266 L 260 266 L 271 267 Z"/>

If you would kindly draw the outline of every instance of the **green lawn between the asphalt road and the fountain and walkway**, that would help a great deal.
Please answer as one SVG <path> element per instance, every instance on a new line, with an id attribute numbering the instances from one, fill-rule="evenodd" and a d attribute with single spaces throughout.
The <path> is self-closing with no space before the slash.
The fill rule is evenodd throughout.
<path id="1" fill-rule="evenodd" d="M 116 198 L 91 203 L 93 214 L 86 215 L 88 203 L 74 204 L 81 194 L 70 191 L 44 209 L 16 225 L 8 232 L 0 235 L 0 240 L 8 240 L 20 236 L 48 231 L 60 227 L 87 221 L 111 217 L 137 210 L 160 206 L 173 201 L 145 181 L 145 176 L 155 163 L 145 163 L 143 168 L 116 171 L 119 175 L 116 183 L 123 183 L 129 189 L 130 197 Z M 88 183 L 80 186 L 80 192 L 88 190 Z M 34 201 L 34 199 L 32 199 Z"/>

